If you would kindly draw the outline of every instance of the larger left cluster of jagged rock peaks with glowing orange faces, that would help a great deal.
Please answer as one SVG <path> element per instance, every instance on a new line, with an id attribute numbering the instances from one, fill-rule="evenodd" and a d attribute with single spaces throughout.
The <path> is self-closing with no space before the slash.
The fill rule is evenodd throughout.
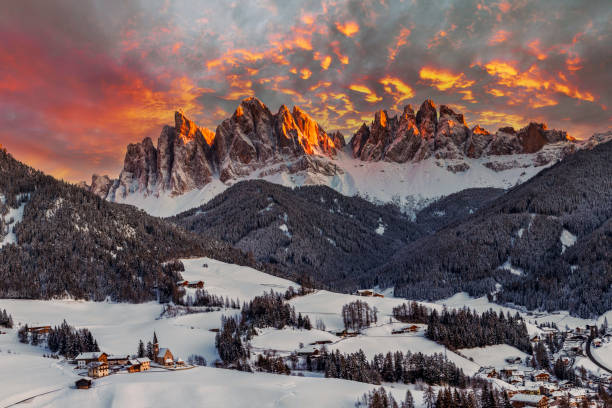
<path id="1" fill-rule="evenodd" d="M 290 111 L 283 105 L 273 114 L 257 98 L 243 100 L 215 133 L 182 112 L 175 113 L 174 122 L 174 127 L 164 126 L 157 147 L 151 138 L 128 145 L 119 178 L 94 175 L 89 189 L 111 200 L 133 193 L 178 195 L 204 187 L 216 175 L 225 182 L 287 160 L 294 161 L 294 169 L 320 167 L 327 174 L 333 166 L 301 158 L 333 156 L 337 144 L 344 146 L 342 134 L 328 136 L 299 107 Z"/>

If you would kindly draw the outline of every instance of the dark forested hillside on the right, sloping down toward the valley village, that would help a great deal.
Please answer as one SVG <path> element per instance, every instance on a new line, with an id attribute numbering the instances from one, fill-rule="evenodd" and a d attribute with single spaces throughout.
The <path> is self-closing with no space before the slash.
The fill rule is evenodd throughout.
<path id="1" fill-rule="evenodd" d="M 612 308 L 612 143 L 577 152 L 462 222 L 411 242 L 364 285 L 437 299 L 496 292 L 529 309 Z"/>

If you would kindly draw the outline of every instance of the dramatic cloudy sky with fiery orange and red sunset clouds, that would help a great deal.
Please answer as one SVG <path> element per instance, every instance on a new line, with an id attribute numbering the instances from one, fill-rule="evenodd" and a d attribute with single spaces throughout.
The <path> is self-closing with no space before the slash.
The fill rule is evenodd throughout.
<path id="1" fill-rule="evenodd" d="M 68 180 L 117 175 L 181 108 L 256 95 L 349 137 L 426 98 L 490 130 L 612 127 L 609 0 L 20 0 L 0 5 L 0 144 Z"/>

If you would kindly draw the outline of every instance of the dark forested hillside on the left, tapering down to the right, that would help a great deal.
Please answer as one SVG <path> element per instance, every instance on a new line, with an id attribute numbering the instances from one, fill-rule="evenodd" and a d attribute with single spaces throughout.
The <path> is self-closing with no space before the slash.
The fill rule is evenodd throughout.
<path id="1" fill-rule="evenodd" d="M 165 261 L 211 256 L 249 262 L 226 243 L 106 202 L 1 149 L 0 196 L 0 297 L 140 302 L 159 294 L 164 300 L 178 278 L 176 264 Z M 22 206 L 22 214 L 14 211 Z"/>

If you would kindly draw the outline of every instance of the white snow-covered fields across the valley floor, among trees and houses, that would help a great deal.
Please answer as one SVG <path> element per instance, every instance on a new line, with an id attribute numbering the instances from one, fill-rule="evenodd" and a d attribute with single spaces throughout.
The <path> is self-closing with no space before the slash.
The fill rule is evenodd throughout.
<path id="1" fill-rule="evenodd" d="M 289 286 L 298 285 L 252 268 L 224 264 L 207 258 L 183 260 L 188 280 L 203 280 L 205 288 L 212 294 L 239 298 L 247 301 L 263 292 L 284 292 Z M 207 266 L 205 267 L 204 264 Z M 340 338 L 333 333 L 343 329 L 342 306 L 360 299 L 378 309 L 378 324 L 356 337 Z M 509 346 L 492 346 L 484 349 L 461 350 L 462 357 L 424 337 L 421 325 L 416 333 L 392 334 L 393 330 L 405 327 L 391 319 L 392 308 L 405 299 L 393 297 L 360 297 L 329 291 L 316 291 L 290 301 L 297 312 L 308 315 L 313 325 L 321 320 L 326 331 L 263 329 L 251 341 L 253 351 L 276 350 L 290 353 L 309 343 L 327 340 L 329 350 L 343 353 L 362 349 L 371 358 L 377 353 L 397 350 L 445 353 L 466 374 L 474 374 L 480 366 L 503 365 L 508 355 L 523 357 L 524 354 Z M 425 303 L 428 307 L 442 309 L 443 305 L 470 307 L 481 312 L 494 310 L 516 310 L 491 304 L 486 298 L 474 299 L 466 294 L 457 294 L 436 303 Z M 216 368 L 194 368 L 180 372 L 146 372 L 138 374 L 112 375 L 95 381 L 89 391 L 70 388 L 77 377 L 73 366 L 62 360 L 43 358 L 46 350 L 41 347 L 20 344 L 17 341 L 19 324 L 58 325 L 66 319 L 81 328 L 87 327 L 97 339 L 103 351 L 112 354 L 133 354 L 138 340 L 147 342 L 153 331 L 157 333 L 161 347 L 169 347 L 175 358 L 187 359 L 191 354 L 204 356 L 209 364 L 218 358 L 214 347 L 215 333 L 223 314 L 234 314 L 236 310 L 221 310 L 197 313 L 174 318 L 159 318 L 162 306 L 154 302 L 144 304 L 118 304 L 112 302 L 84 302 L 74 300 L 8 300 L 0 299 L 0 309 L 12 314 L 16 328 L 3 329 L 0 334 L 0 406 L 42 394 L 30 401 L 31 406 L 152 406 L 172 405 L 202 406 L 274 406 L 297 407 L 318 406 L 352 407 L 358 397 L 373 388 L 372 385 L 325 378 L 302 378 L 269 374 L 247 374 Z M 534 316 L 531 318 L 535 319 Z M 570 320 L 565 314 L 538 316 L 537 320 Z M 587 320 L 584 320 L 587 322 Z M 530 332 L 537 332 L 529 325 Z M 597 350 L 602 360 L 609 350 Z M 468 360 L 473 358 L 473 362 Z M 588 364 L 585 362 L 584 364 Z M 389 385 L 389 387 L 391 387 Z M 403 399 L 406 386 L 393 384 L 398 399 Z M 389 388 L 391 389 L 391 388 Z M 419 405 L 421 392 L 413 392 Z"/>

